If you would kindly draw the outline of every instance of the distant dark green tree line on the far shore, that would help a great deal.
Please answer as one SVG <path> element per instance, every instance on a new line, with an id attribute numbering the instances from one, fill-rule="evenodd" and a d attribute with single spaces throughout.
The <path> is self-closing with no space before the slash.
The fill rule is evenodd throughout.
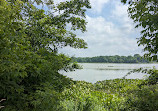
<path id="1" fill-rule="evenodd" d="M 74 57 L 74 61 L 79 63 L 148 63 L 147 59 L 144 59 L 139 54 L 134 56 L 96 56 L 96 57 Z"/>

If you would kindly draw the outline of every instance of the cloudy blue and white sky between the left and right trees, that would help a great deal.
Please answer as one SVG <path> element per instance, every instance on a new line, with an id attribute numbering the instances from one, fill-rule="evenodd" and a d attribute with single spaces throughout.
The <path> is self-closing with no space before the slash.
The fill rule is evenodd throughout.
<path id="1" fill-rule="evenodd" d="M 142 55 L 143 47 L 137 44 L 140 29 L 134 28 L 133 20 L 128 17 L 128 6 L 120 1 L 90 0 L 92 8 L 86 12 L 87 32 L 76 32 L 78 38 L 87 42 L 88 48 L 65 47 L 59 52 L 75 57 Z"/>

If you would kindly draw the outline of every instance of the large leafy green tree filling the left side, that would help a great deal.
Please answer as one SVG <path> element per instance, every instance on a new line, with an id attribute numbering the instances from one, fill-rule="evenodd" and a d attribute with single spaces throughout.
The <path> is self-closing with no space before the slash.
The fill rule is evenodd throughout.
<path id="1" fill-rule="evenodd" d="M 38 9 L 35 3 L 51 10 Z M 73 33 L 86 31 L 86 8 L 90 8 L 88 0 L 58 5 L 51 0 L 0 0 L 0 99 L 6 99 L 4 111 L 56 108 L 60 92 L 71 82 L 59 71 L 78 68 L 58 49 L 87 47 Z"/>

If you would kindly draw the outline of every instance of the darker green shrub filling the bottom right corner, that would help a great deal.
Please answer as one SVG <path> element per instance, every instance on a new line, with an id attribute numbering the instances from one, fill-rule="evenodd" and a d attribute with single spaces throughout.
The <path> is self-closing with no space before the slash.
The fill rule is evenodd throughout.
<path id="1" fill-rule="evenodd" d="M 128 106 L 126 109 L 141 111 L 157 111 L 158 110 L 158 85 L 143 86 L 136 88 L 132 94 L 126 98 Z M 134 98 L 134 99 L 133 99 Z"/>

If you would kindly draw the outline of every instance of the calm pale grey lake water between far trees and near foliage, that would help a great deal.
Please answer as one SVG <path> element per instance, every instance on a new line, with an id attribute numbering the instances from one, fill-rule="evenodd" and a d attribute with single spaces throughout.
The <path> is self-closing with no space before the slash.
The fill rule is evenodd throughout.
<path id="1" fill-rule="evenodd" d="M 114 64 L 114 63 L 80 63 L 83 67 L 81 70 L 74 72 L 62 72 L 73 80 L 84 80 L 95 83 L 100 80 L 116 79 L 124 77 L 133 69 L 158 67 L 158 64 Z M 143 79 L 145 74 L 134 73 L 127 76 L 128 79 Z"/>

